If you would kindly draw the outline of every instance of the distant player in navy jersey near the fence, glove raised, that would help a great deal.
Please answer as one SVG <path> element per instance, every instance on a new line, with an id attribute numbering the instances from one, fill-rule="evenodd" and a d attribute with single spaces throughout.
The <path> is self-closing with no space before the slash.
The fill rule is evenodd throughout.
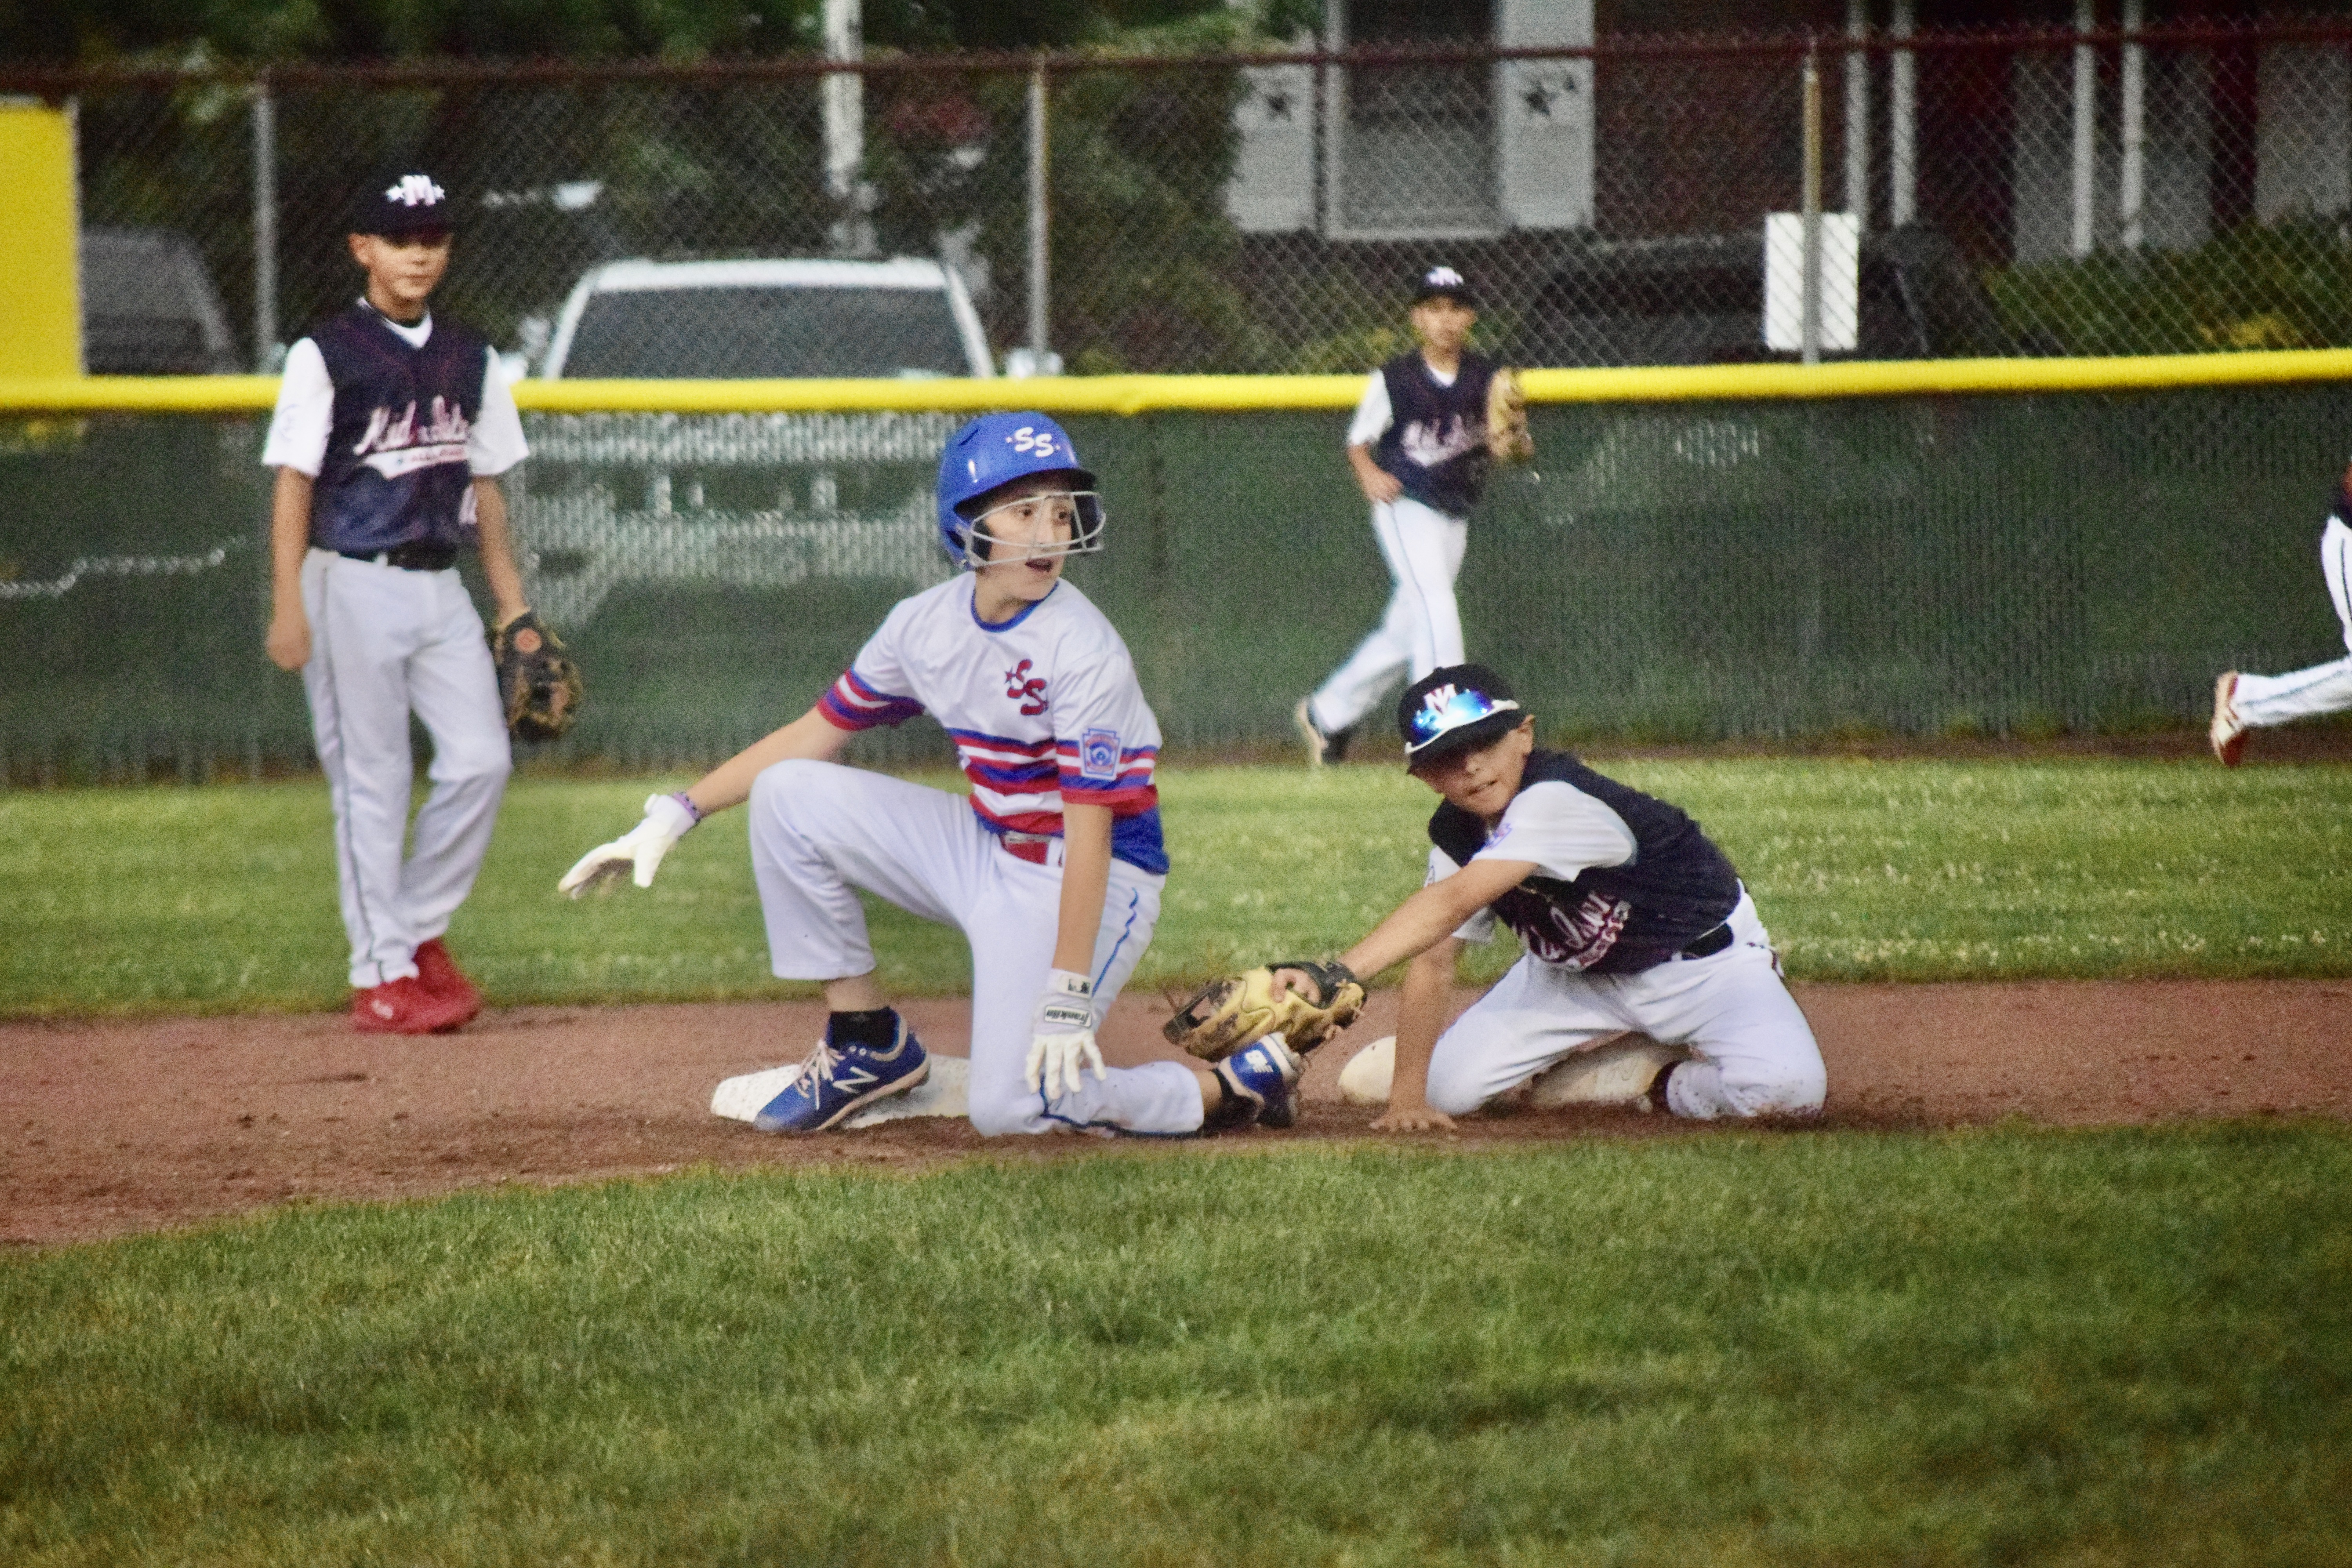
<path id="1" fill-rule="evenodd" d="M 1390 686 L 1463 661 L 1454 578 L 1470 508 L 1486 484 L 1486 383 L 1496 364 L 1465 348 L 1477 294 L 1449 266 L 1414 280 L 1418 348 L 1371 371 L 1348 425 L 1348 468 L 1371 501 L 1371 536 L 1395 588 L 1381 625 L 1291 717 L 1308 766 L 1338 762 Z"/>

